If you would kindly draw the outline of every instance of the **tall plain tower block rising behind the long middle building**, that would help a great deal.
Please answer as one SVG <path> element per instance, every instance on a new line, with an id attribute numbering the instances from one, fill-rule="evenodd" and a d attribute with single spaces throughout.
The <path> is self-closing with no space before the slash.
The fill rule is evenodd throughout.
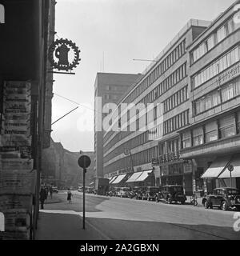
<path id="1" fill-rule="evenodd" d="M 116 103 L 141 74 L 98 73 L 94 84 L 94 175 L 103 177 L 102 107 Z"/>

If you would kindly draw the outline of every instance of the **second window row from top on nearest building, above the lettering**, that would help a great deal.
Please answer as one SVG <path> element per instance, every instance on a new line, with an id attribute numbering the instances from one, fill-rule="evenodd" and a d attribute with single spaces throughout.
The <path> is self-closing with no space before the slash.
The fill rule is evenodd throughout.
<path id="1" fill-rule="evenodd" d="M 234 65 L 234 63 L 240 60 L 240 47 L 237 46 L 230 50 L 227 54 L 224 54 L 217 61 L 211 63 L 204 70 L 200 71 L 198 74 L 191 78 L 192 88 L 197 88 L 201 86 L 204 82 L 214 78 L 217 74 L 226 70 L 228 67 Z"/>

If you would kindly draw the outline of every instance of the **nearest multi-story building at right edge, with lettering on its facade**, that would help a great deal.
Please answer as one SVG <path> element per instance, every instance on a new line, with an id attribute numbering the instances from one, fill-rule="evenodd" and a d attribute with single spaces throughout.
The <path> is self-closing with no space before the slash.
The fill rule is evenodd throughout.
<path id="1" fill-rule="evenodd" d="M 190 53 L 189 126 L 181 130 L 181 158 L 193 160 L 193 190 L 240 187 L 240 2 L 195 38 Z M 203 175 L 202 175 L 203 174 Z"/>

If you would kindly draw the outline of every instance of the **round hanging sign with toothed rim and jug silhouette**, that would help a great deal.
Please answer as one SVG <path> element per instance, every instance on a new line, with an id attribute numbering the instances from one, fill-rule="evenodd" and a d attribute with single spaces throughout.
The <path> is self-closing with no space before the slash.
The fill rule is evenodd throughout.
<path id="1" fill-rule="evenodd" d="M 78 46 L 70 40 L 67 39 L 58 39 L 54 41 L 49 48 L 48 58 L 51 66 L 58 70 L 73 70 L 78 66 L 80 50 Z M 69 58 L 72 58 L 72 61 L 69 61 Z"/>

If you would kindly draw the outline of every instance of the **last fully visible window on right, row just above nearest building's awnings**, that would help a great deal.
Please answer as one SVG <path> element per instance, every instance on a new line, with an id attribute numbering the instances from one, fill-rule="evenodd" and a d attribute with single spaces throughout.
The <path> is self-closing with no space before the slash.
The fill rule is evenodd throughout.
<path id="1" fill-rule="evenodd" d="M 235 118 L 233 114 L 219 119 L 219 133 L 220 138 L 227 138 L 236 134 Z"/>

